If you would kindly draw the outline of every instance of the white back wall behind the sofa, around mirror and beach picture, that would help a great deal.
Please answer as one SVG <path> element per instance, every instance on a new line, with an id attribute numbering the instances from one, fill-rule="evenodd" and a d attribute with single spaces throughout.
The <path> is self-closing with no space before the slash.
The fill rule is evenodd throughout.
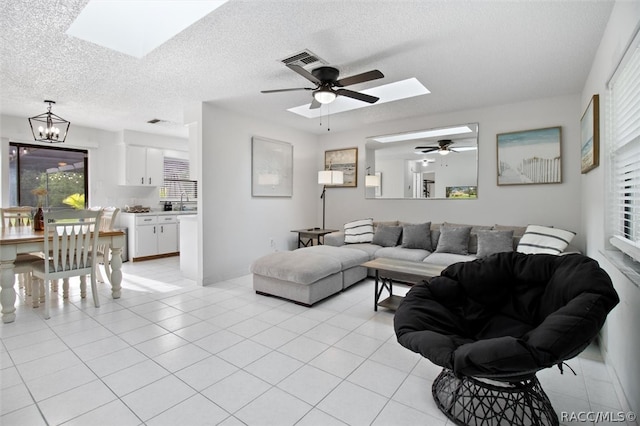
<path id="1" fill-rule="evenodd" d="M 320 137 L 321 149 L 357 145 L 360 158 L 357 188 L 327 190 L 330 191 L 327 201 L 327 226 L 341 228 L 345 222 L 364 217 L 373 217 L 376 220 L 430 220 L 485 225 L 535 223 L 578 232 L 573 244 L 578 248 L 584 248 L 585 236 L 579 232 L 582 220 L 579 117 L 580 97 L 567 95 L 392 123 L 378 123 L 365 129 L 343 133 L 332 128 L 330 134 Z M 364 143 L 367 137 L 472 122 L 479 123 L 477 200 L 364 199 Z M 563 183 L 498 186 L 496 134 L 552 126 L 562 127 Z M 322 167 L 322 155 L 318 156 L 316 167 Z M 320 209 L 317 214 L 322 214 Z"/>

